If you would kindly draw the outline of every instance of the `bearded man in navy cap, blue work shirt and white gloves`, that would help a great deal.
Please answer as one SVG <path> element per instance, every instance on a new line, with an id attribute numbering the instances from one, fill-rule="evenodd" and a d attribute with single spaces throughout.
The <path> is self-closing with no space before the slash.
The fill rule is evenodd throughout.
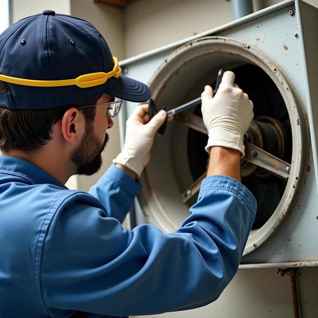
<path id="1" fill-rule="evenodd" d="M 149 88 L 122 76 L 92 24 L 46 10 L 0 36 L 0 315 L 105 317 L 204 306 L 235 275 L 256 203 L 240 181 L 248 96 L 226 72 L 202 113 L 207 177 L 174 233 L 121 226 L 141 185 L 164 111 L 147 105 L 127 121 L 121 154 L 90 194 L 68 190 L 73 174 L 101 166 L 107 129 L 122 100 Z M 97 105 L 97 106 L 96 106 Z"/>

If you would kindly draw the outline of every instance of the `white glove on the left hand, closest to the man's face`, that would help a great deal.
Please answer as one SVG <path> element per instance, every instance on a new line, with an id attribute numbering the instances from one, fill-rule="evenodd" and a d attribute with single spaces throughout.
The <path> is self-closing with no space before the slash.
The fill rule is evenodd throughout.
<path id="1" fill-rule="evenodd" d="M 143 168 L 149 163 L 156 132 L 166 116 L 167 113 L 161 110 L 149 121 L 148 105 L 138 106 L 126 121 L 124 148 L 113 162 L 141 176 Z"/>

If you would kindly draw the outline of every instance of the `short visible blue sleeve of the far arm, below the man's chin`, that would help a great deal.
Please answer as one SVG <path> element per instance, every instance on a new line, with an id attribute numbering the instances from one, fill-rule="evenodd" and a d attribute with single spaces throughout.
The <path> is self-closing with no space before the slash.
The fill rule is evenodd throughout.
<path id="1" fill-rule="evenodd" d="M 109 216 L 122 223 L 140 189 L 140 183 L 112 164 L 89 193 L 104 204 Z"/>

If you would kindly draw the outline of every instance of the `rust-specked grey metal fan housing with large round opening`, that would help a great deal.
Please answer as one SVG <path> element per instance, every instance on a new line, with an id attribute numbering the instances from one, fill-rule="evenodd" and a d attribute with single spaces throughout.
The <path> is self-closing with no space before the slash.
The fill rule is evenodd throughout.
<path id="1" fill-rule="evenodd" d="M 120 63 L 124 73 L 149 83 L 158 108 L 196 98 L 205 84 L 213 85 L 221 67 L 233 70 L 249 94 L 255 117 L 246 140 L 271 156 L 254 152 L 259 161 L 242 160 L 242 183 L 257 198 L 258 211 L 241 267 L 318 266 L 316 30 L 315 7 L 284 1 Z M 134 107 L 125 103 L 121 140 Z M 191 198 L 184 201 L 181 194 L 204 173 L 207 159 L 207 136 L 193 125 L 189 128 L 199 117 L 200 107 L 193 108 L 156 137 L 140 179 L 137 223 L 172 232 L 188 216 L 196 195 L 188 191 Z M 266 160 L 276 172 L 285 169 L 285 175 L 263 169 Z"/>

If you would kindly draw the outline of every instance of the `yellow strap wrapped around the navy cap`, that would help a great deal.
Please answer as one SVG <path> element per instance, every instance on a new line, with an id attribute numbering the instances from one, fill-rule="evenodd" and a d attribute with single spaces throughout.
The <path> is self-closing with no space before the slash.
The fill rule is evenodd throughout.
<path id="1" fill-rule="evenodd" d="M 118 59 L 113 56 L 114 67 L 113 70 L 105 73 L 89 73 L 80 75 L 76 79 L 60 79 L 60 80 L 36 80 L 36 79 L 20 79 L 0 74 L 0 80 L 12 84 L 19 84 L 24 86 L 37 86 L 37 87 L 57 87 L 57 86 L 70 86 L 77 85 L 80 88 L 92 87 L 104 84 L 107 79 L 114 76 L 118 78 L 121 73 L 121 68 L 118 65 Z"/>

